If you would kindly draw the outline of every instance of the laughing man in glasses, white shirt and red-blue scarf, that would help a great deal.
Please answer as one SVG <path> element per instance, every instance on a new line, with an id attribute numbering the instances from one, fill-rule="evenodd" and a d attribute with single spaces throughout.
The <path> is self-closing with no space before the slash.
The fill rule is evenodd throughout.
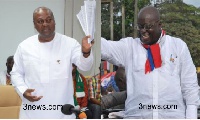
<path id="1" fill-rule="evenodd" d="M 124 118 L 197 118 L 196 69 L 185 42 L 165 34 L 152 6 L 138 14 L 139 38 L 101 39 L 101 55 L 125 67 Z"/>

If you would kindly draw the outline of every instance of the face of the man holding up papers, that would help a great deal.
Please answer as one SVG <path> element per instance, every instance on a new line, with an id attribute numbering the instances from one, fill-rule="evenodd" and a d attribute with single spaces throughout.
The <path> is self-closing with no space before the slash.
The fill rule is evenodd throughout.
<path id="1" fill-rule="evenodd" d="M 45 9 L 40 10 L 34 16 L 34 26 L 42 38 L 54 36 L 55 21 L 53 16 Z"/>

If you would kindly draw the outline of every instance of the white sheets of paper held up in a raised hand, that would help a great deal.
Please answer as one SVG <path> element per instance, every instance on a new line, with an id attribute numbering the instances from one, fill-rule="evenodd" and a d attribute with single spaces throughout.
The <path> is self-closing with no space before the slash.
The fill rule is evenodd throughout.
<path id="1" fill-rule="evenodd" d="M 88 43 L 94 39 L 95 32 L 95 10 L 96 1 L 95 0 L 85 0 L 84 6 L 81 6 L 80 12 L 77 14 L 77 18 L 81 24 L 83 32 L 85 35 L 90 35 Z"/>

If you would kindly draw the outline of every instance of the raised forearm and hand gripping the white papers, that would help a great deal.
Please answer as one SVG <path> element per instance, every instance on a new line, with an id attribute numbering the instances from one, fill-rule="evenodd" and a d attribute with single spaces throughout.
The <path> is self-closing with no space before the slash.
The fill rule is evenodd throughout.
<path id="1" fill-rule="evenodd" d="M 90 70 L 93 64 L 92 45 L 86 43 L 88 38 L 89 37 L 86 36 L 82 39 L 82 46 L 76 41 L 71 53 L 72 63 L 75 63 L 75 65 L 82 71 Z"/>

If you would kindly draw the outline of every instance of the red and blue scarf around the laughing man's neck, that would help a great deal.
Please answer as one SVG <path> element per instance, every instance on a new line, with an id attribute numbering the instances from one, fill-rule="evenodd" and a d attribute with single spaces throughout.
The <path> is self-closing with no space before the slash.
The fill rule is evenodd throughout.
<path id="1" fill-rule="evenodd" d="M 165 31 L 162 30 L 161 38 L 164 35 L 165 35 Z M 157 42 L 156 44 L 153 44 L 153 45 L 144 45 L 143 44 L 143 46 L 147 50 L 147 55 L 148 55 L 146 63 L 145 63 L 145 74 L 147 74 L 147 73 L 153 71 L 154 68 L 161 67 L 162 60 L 161 60 L 161 55 L 160 55 L 160 45 Z"/>

